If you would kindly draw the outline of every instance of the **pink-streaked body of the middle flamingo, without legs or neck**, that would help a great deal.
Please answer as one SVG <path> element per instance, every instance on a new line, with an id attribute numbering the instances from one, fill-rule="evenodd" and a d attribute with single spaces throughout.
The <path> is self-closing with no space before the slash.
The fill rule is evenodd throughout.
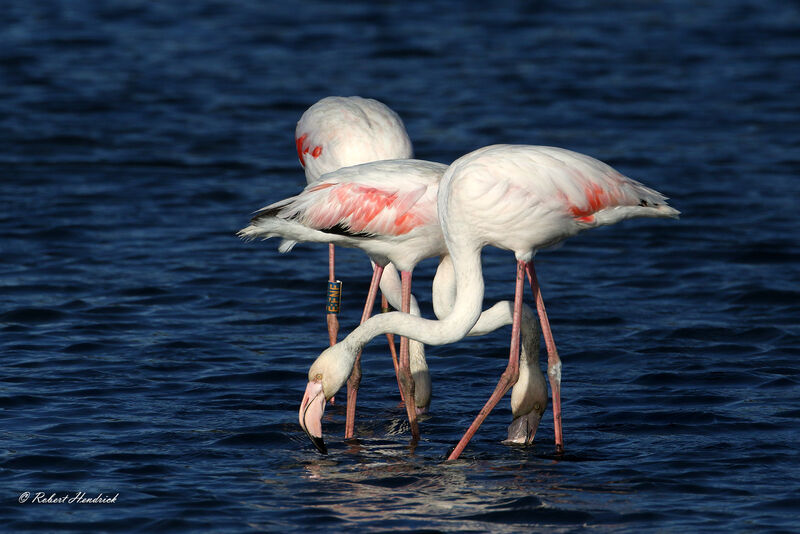
<path id="1" fill-rule="evenodd" d="M 328 173 L 297 196 L 262 208 L 239 232 L 360 248 L 377 264 L 411 271 L 446 252 L 436 199 L 446 165 L 419 160 L 376 161 Z"/>

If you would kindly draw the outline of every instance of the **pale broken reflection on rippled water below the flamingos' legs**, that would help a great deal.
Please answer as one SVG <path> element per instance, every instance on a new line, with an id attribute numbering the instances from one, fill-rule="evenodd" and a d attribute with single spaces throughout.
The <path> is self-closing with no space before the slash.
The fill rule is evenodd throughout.
<path id="1" fill-rule="evenodd" d="M 511 532 L 519 525 L 549 525 L 557 531 L 557 523 L 572 528 L 588 516 L 564 499 L 565 479 L 550 469 L 552 459 L 445 463 L 376 441 L 353 443 L 347 452 L 355 457 L 319 458 L 303 466 L 315 488 L 305 505 L 335 510 L 360 526 L 424 523 L 441 530 Z"/>

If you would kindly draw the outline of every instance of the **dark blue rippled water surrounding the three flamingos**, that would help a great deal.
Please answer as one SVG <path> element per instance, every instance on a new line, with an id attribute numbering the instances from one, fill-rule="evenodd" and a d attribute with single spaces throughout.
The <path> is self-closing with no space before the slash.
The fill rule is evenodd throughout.
<path id="1" fill-rule="evenodd" d="M 4 3 L 3 528 L 800 531 L 800 7 L 490 4 Z M 358 439 L 341 403 L 327 457 L 305 438 L 324 249 L 234 234 L 305 184 L 294 125 L 331 94 L 389 104 L 419 158 L 562 146 L 682 211 L 537 258 L 563 456 L 549 411 L 535 445 L 501 445 L 504 400 L 443 462 L 507 328 L 429 349 L 415 449 L 381 340 Z M 513 257 L 484 262 L 487 303 L 510 298 Z M 355 251 L 339 266 L 347 332 L 369 267 Z M 433 269 L 415 272 L 428 315 Z"/>

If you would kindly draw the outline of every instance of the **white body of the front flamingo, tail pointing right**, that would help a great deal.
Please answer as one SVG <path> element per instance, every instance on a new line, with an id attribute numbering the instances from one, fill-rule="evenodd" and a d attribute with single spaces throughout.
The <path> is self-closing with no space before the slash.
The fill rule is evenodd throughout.
<path id="1" fill-rule="evenodd" d="M 589 228 L 678 214 L 661 193 L 599 160 L 555 147 L 478 149 L 453 162 L 441 189 L 446 231 L 480 247 L 513 251 L 519 260 Z M 469 235 L 461 236 L 465 225 Z"/>

